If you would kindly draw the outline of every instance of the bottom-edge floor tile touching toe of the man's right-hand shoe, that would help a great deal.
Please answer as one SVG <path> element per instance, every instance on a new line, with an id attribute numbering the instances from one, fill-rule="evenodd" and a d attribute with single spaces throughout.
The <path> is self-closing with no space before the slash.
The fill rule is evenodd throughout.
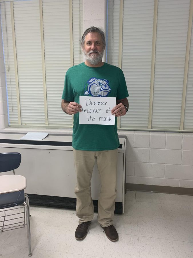
<path id="1" fill-rule="evenodd" d="M 115 243 L 106 240 L 104 258 L 139 258 L 138 236 L 119 234 L 119 240 Z"/>

